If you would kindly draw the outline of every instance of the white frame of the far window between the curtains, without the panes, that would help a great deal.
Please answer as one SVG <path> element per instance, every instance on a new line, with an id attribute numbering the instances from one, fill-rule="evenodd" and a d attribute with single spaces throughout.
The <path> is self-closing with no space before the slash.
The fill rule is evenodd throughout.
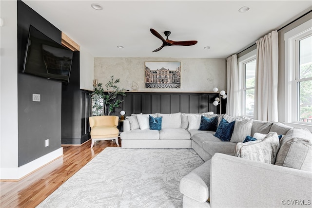
<path id="1" fill-rule="evenodd" d="M 245 104 L 246 104 L 246 100 L 245 100 L 245 91 L 249 90 L 249 89 L 254 89 L 255 91 L 255 86 L 252 88 L 246 88 L 246 64 L 256 60 L 256 52 L 257 50 L 254 49 L 253 51 L 245 54 L 242 57 L 239 57 L 237 59 L 238 62 L 238 76 L 239 76 L 239 91 L 240 91 L 240 112 L 239 115 L 241 116 L 245 116 L 245 117 L 249 117 L 249 118 L 254 118 L 254 115 L 246 115 L 245 113 Z"/>

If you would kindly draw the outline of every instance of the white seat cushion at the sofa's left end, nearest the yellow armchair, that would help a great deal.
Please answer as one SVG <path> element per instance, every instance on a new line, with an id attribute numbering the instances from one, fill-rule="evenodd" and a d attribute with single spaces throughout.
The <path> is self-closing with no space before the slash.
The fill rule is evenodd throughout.
<path id="1" fill-rule="evenodd" d="M 120 139 L 159 139 L 159 131 L 150 129 L 135 129 L 129 132 L 122 132 L 120 134 Z"/>

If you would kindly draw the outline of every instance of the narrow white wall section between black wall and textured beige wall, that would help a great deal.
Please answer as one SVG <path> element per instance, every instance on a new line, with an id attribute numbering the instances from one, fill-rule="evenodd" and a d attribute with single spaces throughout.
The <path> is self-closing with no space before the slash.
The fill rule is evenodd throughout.
<path id="1" fill-rule="evenodd" d="M 94 57 L 80 46 L 80 89 L 93 90 Z"/>

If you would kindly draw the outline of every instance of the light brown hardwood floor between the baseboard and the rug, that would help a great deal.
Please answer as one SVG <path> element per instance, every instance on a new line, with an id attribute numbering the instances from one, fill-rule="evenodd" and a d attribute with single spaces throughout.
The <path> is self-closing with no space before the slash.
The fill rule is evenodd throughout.
<path id="1" fill-rule="evenodd" d="M 120 140 L 119 140 L 120 144 Z M 63 146 L 63 156 L 27 175 L 19 181 L 0 182 L 1 208 L 34 208 L 59 188 L 106 147 L 117 147 L 115 141 L 98 141 L 90 149 L 91 140 L 81 146 Z"/>

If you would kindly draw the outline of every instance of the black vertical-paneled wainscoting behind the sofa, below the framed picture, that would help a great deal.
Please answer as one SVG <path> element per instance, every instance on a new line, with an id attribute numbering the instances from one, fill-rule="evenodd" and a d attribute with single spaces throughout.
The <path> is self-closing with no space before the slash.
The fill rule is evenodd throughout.
<path id="1" fill-rule="evenodd" d="M 131 113 L 204 113 L 213 111 L 220 114 L 220 106 L 213 102 L 218 93 L 154 93 L 126 92 L 120 108 L 114 113 L 120 116 L 124 110 L 126 116 Z M 119 97 L 121 98 L 121 97 Z M 221 113 L 225 113 L 226 99 L 221 98 Z"/>

